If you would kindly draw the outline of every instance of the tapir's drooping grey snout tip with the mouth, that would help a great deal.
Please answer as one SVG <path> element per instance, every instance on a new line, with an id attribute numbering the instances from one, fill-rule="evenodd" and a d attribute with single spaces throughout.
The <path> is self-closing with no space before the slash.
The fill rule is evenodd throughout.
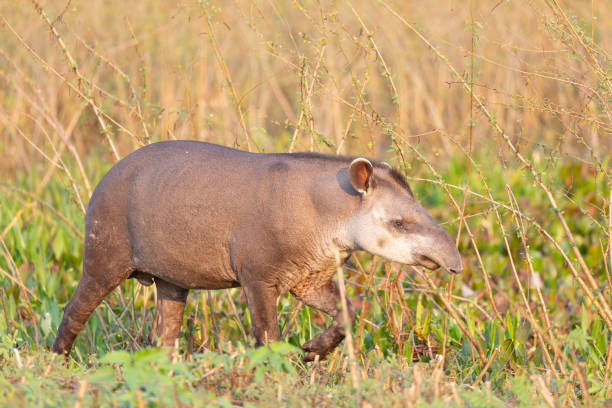
<path id="1" fill-rule="evenodd" d="M 438 225 L 429 228 L 424 237 L 427 244 L 419 248 L 414 256 L 417 264 L 430 270 L 444 268 L 451 273 L 463 271 L 459 250 L 444 228 Z"/>

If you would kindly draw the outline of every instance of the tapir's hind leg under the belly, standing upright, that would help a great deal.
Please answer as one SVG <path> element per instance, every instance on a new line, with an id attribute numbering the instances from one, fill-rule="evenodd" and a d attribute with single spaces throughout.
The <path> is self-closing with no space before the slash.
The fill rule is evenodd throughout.
<path id="1" fill-rule="evenodd" d="M 189 290 L 157 278 L 155 278 L 155 287 L 157 305 L 149 333 L 149 343 L 156 344 L 159 339 L 162 346 L 173 346 L 181 330 Z"/>

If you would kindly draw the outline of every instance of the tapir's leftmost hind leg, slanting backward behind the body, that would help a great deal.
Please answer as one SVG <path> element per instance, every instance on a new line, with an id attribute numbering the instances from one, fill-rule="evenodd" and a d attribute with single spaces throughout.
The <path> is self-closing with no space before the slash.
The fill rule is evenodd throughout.
<path id="1" fill-rule="evenodd" d="M 89 316 L 102 303 L 102 300 L 124 280 L 125 277 L 121 276 L 100 279 L 85 272 L 72 299 L 64 309 L 64 317 L 57 330 L 52 350 L 58 354 L 68 355 L 76 336 L 83 330 Z"/>

